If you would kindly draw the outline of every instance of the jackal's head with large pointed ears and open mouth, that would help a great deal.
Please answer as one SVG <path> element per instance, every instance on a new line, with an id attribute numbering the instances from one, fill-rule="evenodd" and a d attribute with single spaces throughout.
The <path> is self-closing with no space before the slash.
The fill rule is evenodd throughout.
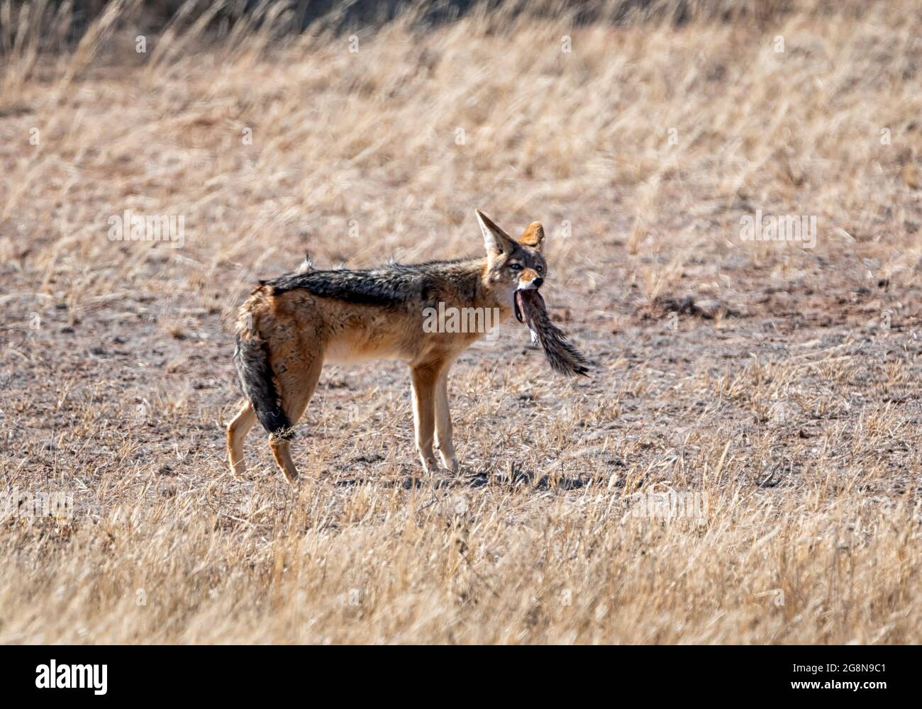
<path id="1" fill-rule="evenodd" d="M 533 221 L 516 242 L 479 209 L 476 213 L 487 249 L 484 285 L 498 304 L 512 307 L 515 319 L 523 323 L 518 291 L 537 290 L 548 275 L 548 264 L 541 255 L 544 228 Z"/>

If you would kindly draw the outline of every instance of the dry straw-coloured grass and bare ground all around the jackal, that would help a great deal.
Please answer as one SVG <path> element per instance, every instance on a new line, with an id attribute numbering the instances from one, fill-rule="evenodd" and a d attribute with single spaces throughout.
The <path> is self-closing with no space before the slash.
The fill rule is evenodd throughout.
<path id="1" fill-rule="evenodd" d="M 0 485 L 73 496 L 0 510 L 0 642 L 922 642 L 922 4 L 792 5 L 0 23 Z M 329 367 L 301 486 L 261 431 L 232 479 L 254 281 L 478 255 L 475 207 L 544 223 L 592 376 L 504 326 L 453 371 L 461 472 L 415 482 L 405 367 Z M 125 209 L 182 246 L 111 241 Z"/>

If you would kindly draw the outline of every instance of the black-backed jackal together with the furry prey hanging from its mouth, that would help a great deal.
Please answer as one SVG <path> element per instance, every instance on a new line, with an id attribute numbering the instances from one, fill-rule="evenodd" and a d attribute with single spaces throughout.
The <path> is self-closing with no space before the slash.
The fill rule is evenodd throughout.
<path id="1" fill-rule="evenodd" d="M 396 358 L 409 365 L 416 448 L 427 472 L 458 469 L 448 409 L 448 371 L 485 330 L 435 328 L 424 313 L 499 313 L 515 317 L 541 344 L 551 368 L 585 374 L 585 358 L 550 322 L 538 289 L 547 277 L 544 229 L 532 222 L 517 240 L 477 210 L 486 255 L 423 264 L 388 263 L 368 270 L 314 268 L 260 281 L 237 323 L 234 364 L 246 401 L 228 425 L 231 473 L 245 469 L 243 440 L 258 420 L 285 477 L 292 427 L 301 419 L 327 361 Z M 492 318 L 485 318 L 492 322 Z M 475 321 L 476 322 L 476 321 Z"/>

